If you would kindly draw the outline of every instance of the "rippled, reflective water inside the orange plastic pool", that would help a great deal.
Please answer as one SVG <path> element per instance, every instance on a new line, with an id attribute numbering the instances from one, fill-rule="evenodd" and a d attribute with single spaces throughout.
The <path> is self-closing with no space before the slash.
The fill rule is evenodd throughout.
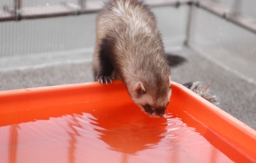
<path id="1" fill-rule="evenodd" d="M 167 114 L 165 118 L 153 119 L 134 104 L 127 104 L 86 108 L 84 112 L 61 116 L 49 113 L 45 120 L 37 120 L 36 114 L 30 114 L 32 121 L 22 122 L 19 117 L 21 123 L 0 127 L 0 162 L 232 162 L 195 128 Z"/>

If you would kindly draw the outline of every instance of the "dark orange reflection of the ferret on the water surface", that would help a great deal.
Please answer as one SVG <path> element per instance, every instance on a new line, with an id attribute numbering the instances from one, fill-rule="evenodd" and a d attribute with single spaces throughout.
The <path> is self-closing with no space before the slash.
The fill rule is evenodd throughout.
<path id="1" fill-rule="evenodd" d="M 124 108 L 124 109 L 122 109 Z M 98 117 L 93 125 L 100 133 L 100 139 L 107 143 L 111 150 L 126 154 L 153 148 L 166 132 L 166 119 L 154 119 L 141 113 L 138 109 L 120 107 L 120 111 L 93 114 Z"/>

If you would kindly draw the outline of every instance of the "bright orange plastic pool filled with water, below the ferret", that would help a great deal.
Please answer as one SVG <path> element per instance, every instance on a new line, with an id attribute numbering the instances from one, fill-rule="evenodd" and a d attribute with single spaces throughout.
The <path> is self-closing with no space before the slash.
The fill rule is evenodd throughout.
<path id="1" fill-rule="evenodd" d="M 124 84 L 0 92 L 1 163 L 256 162 L 256 131 L 173 82 L 167 117 L 148 117 Z"/>

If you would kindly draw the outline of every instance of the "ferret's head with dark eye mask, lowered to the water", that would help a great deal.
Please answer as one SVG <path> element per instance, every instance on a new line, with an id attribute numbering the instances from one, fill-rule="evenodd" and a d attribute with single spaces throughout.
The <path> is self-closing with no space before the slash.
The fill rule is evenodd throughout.
<path id="1" fill-rule="evenodd" d="M 171 75 L 157 82 L 137 82 L 130 96 L 150 117 L 161 118 L 165 114 L 171 97 Z"/>

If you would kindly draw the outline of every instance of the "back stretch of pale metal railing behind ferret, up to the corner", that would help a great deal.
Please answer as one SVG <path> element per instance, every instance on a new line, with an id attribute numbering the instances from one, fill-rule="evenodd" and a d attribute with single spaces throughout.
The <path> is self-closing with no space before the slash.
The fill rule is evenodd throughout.
<path id="1" fill-rule="evenodd" d="M 190 0 L 146 0 L 147 4 L 153 7 L 187 4 Z M 102 6 L 102 1 L 78 0 L 77 4 L 63 2 L 58 5 L 40 6 L 40 7 L 21 7 L 22 0 L 14 0 L 14 6 L 4 6 L 0 10 L 0 22 L 22 19 L 49 18 L 56 16 L 80 15 L 87 13 L 96 13 Z"/>

